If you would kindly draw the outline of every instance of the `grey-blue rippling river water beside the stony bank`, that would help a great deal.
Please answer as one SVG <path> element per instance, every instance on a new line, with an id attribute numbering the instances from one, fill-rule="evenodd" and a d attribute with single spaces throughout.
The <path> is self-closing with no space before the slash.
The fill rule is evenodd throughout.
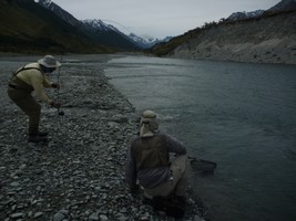
<path id="1" fill-rule="evenodd" d="M 192 157 L 217 162 L 194 181 L 210 220 L 296 220 L 295 65 L 123 56 L 105 73 Z"/>

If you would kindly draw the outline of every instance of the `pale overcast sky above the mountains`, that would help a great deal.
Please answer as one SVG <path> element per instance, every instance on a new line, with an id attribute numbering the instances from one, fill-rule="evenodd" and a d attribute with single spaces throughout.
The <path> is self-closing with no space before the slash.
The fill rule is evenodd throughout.
<path id="1" fill-rule="evenodd" d="M 79 20 L 100 19 L 122 32 L 163 39 L 237 11 L 269 9 L 280 0 L 52 0 Z"/>

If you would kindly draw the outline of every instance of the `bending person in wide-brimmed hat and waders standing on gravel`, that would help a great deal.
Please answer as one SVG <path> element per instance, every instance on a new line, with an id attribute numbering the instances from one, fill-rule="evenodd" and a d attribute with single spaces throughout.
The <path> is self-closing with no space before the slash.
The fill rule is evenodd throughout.
<path id="1" fill-rule="evenodd" d="M 59 84 L 50 82 L 45 73 L 52 73 L 61 63 L 51 55 L 45 55 L 35 63 L 20 67 L 8 85 L 8 96 L 29 117 L 29 143 L 47 140 L 47 131 L 39 131 L 41 106 L 33 98 L 32 92 L 45 104 L 59 108 L 59 103 L 50 99 L 44 87 L 60 88 Z"/>

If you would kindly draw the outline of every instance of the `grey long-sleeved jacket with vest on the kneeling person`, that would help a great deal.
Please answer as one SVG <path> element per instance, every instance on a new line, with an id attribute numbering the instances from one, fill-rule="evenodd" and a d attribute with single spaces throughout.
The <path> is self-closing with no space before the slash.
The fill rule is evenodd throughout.
<path id="1" fill-rule="evenodd" d="M 125 180 L 134 188 L 136 179 L 144 188 L 153 188 L 165 182 L 172 176 L 170 152 L 185 155 L 185 147 L 175 138 L 165 134 L 153 137 L 135 136 L 127 149 Z"/>

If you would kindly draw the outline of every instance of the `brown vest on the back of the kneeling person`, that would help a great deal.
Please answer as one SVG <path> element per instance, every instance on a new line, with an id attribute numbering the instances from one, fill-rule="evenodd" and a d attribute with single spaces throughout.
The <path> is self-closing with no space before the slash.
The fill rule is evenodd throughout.
<path id="1" fill-rule="evenodd" d="M 169 166 L 170 156 L 164 135 L 135 139 L 131 148 L 135 158 L 136 171 Z"/>

